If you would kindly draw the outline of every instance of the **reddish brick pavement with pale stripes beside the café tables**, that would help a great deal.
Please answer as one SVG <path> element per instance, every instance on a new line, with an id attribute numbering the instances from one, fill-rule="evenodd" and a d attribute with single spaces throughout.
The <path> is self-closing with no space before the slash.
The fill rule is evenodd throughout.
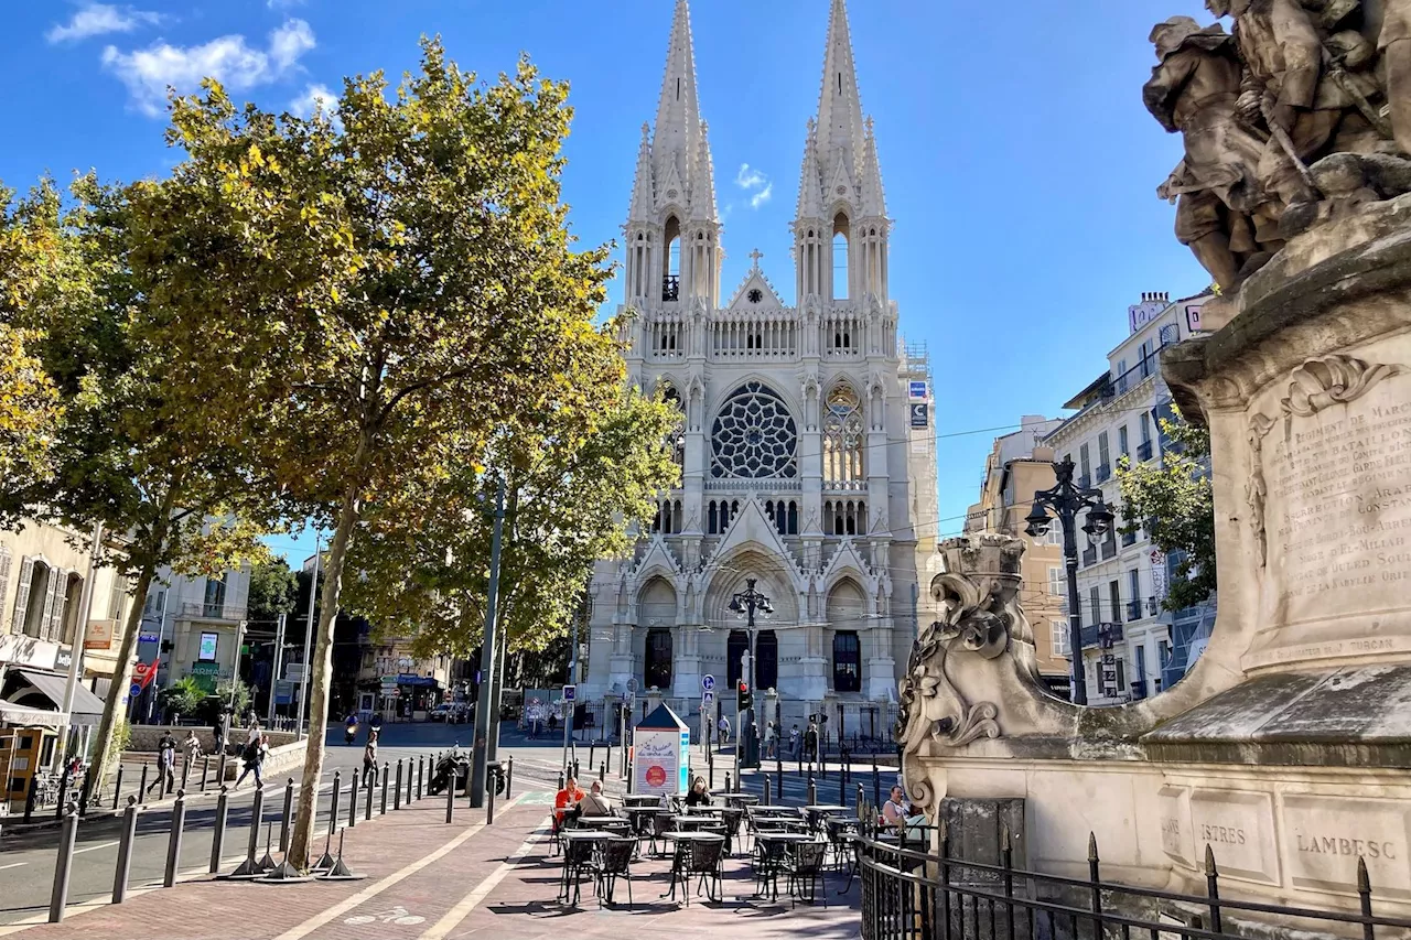
<path id="1" fill-rule="evenodd" d="M 807 933 L 825 939 L 858 936 L 856 886 L 837 895 L 844 878 L 828 882 L 828 909 L 792 910 L 787 902 L 755 902 L 749 864 L 727 864 L 724 900 L 663 900 L 667 864 L 636 865 L 628 906 L 600 909 L 591 885 L 577 908 L 555 900 L 559 860 L 549 857 L 549 795 L 523 793 L 484 826 L 483 810 L 457 800 L 456 821 L 444 824 L 444 803 L 426 800 L 347 830 L 346 860 L 356 882 L 296 885 L 222 882 L 206 876 L 169 889 L 130 896 L 120 906 L 69 909 L 62 924 L 24 927 L 24 940 L 450 940 L 494 937 L 533 940 L 566 933 L 625 937 L 645 929 L 673 937 L 728 932 L 732 940 L 772 940 Z M 322 850 L 322 838 L 319 848 Z M 336 840 L 334 840 L 336 844 Z M 227 865 L 227 869 L 230 867 Z M 851 902 L 851 909 L 849 909 Z M 13 929 L 10 929 L 13 930 Z M 10 930 L 0 930 L 0 936 Z"/>

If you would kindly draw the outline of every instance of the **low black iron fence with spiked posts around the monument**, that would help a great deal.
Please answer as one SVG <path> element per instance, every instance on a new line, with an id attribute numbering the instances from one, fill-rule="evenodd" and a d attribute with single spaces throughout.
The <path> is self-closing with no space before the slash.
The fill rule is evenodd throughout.
<path id="1" fill-rule="evenodd" d="M 1377 940 L 1411 932 L 1411 920 L 1374 913 L 1362 860 L 1353 913 L 1226 899 L 1208 845 L 1205 893 L 1182 895 L 1105 881 L 1091 836 L 1085 879 L 1016 868 L 1007 831 L 998 864 L 954 858 L 944 827 L 937 836 L 938 854 L 875 828 L 856 837 L 864 940 L 1213 940 L 1276 936 L 1273 927 Z"/>

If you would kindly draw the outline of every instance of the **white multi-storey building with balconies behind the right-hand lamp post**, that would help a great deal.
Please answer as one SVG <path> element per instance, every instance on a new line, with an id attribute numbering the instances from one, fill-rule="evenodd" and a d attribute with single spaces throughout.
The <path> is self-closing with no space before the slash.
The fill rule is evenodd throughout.
<path id="1" fill-rule="evenodd" d="M 1175 614 L 1163 608 L 1178 559 L 1158 550 L 1149 526 L 1122 532 L 1119 462 L 1160 463 L 1173 443 L 1161 421 L 1173 416 L 1161 378 L 1167 346 L 1201 332 L 1204 296 L 1182 301 L 1143 294 L 1127 309 L 1127 337 L 1108 354 L 1108 370 L 1078 392 L 1075 408 L 1044 439 L 1057 460 L 1071 459 L 1075 481 L 1099 487 L 1118 524 L 1098 542 L 1078 536 L 1082 662 L 1092 704 L 1134 701 L 1167 689 L 1194 665 L 1215 624 L 1213 601 Z M 1078 525 L 1085 518 L 1078 517 Z M 1057 526 L 1054 526 L 1057 528 Z"/>

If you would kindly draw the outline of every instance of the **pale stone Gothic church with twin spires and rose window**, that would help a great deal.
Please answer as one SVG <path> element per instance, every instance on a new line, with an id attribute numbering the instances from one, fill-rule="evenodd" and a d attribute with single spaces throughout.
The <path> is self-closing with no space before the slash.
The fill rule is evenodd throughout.
<path id="1" fill-rule="evenodd" d="M 634 689 L 643 707 L 645 693 L 696 714 L 707 676 L 717 700 L 748 679 L 753 645 L 762 720 L 885 734 L 917 624 L 934 618 L 935 442 L 928 361 L 902 342 L 888 291 L 892 220 L 842 0 L 804 135 L 792 301 L 758 251 L 721 291 L 684 0 L 624 231 L 629 381 L 680 408 L 682 481 L 631 558 L 598 565 L 580 699 Z M 773 608 L 755 631 L 731 610 L 751 583 Z"/>

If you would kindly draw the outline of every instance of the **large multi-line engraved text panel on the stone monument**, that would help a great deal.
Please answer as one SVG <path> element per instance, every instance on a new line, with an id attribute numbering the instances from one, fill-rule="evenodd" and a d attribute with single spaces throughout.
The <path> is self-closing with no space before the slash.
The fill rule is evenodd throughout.
<path id="1" fill-rule="evenodd" d="M 1352 404 L 1280 418 L 1264 440 L 1270 563 L 1287 601 L 1281 622 L 1408 605 L 1408 398 L 1411 377 L 1393 377 Z M 1367 642 L 1345 652 L 1393 648 L 1387 638 Z"/>

